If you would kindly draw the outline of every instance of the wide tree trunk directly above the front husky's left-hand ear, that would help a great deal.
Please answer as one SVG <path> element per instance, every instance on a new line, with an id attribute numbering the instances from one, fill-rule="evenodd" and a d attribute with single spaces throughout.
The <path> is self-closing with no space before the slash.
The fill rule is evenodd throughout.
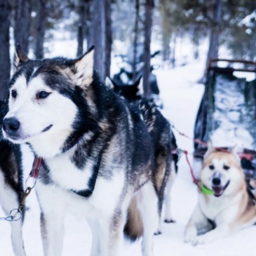
<path id="1" fill-rule="evenodd" d="M 15 44 L 20 43 L 22 50 L 29 52 L 29 29 L 31 24 L 31 2 L 30 0 L 15 1 Z"/>

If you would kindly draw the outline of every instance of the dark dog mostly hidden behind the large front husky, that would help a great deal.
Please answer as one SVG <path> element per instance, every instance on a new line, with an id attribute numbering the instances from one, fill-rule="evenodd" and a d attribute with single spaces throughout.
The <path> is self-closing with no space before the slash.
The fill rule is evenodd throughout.
<path id="1" fill-rule="evenodd" d="M 140 77 L 141 79 L 141 77 Z M 171 189 L 173 187 L 173 184 L 175 182 L 175 176 L 177 173 L 177 161 L 178 161 L 178 155 L 175 152 L 177 149 L 177 144 L 175 140 L 175 136 L 173 134 L 173 130 L 170 128 L 169 122 L 163 117 L 163 114 L 159 111 L 158 107 L 154 104 L 153 100 L 146 100 L 142 97 L 142 93 L 140 92 L 140 79 L 135 81 L 135 83 L 131 85 L 122 85 L 119 86 L 114 82 L 113 79 L 106 79 L 107 86 L 109 88 L 112 88 L 115 93 L 119 93 L 122 97 L 126 98 L 128 102 L 136 105 L 142 113 L 142 117 L 147 125 L 147 128 L 149 130 L 149 133 L 151 135 L 151 138 L 154 142 L 154 149 L 155 149 L 155 157 L 156 159 L 159 158 L 159 156 L 162 154 L 164 155 L 164 158 L 162 157 L 161 161 L 160 159 L 157 160 L 157 164 L 161 163 L 168 163 L 170 164 L 170 172 L 168 176 L 168 182 L 165 182 L 166 184 L 166 200 L 165 200 L 165 216 L 164 221 L 166 223 L 174 222 L 171 210 L 170 210 L 170 194 Z M 164 128 L 164 129 L 163 129 Z M 159 140 L 159 137 L 166 137 L 168 138 L 168 144 L 169 147 L 164 147 L 164 144 L 166 144 L 166 140 Z M 170 158 L 170 159 L 168 159 Z M 158 169 L 159 172 L 161 172 L 161 168 Z M 155 173 L 154 180 L 155 184 L 162 182 L 162 176 L 161 173 Z M 165 175 L 168 175 L 166 173 Z M 160 180 L 159 180 L 160 178 Z M 163 190 L 165 189 L 165 186 L 163 186 Z M 162 211 L 162 200 L 159 201 L 159 228 L 156 231 L 156 234 L 161 234 L 161 211 Z"/>

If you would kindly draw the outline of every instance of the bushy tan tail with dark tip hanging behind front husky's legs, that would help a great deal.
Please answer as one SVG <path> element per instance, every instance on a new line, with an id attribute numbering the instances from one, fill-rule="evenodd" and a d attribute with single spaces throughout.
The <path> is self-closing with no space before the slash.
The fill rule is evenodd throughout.
<path id="1" fill-rule="evenodd" d="M 123 233 L 126 238 L 129 238 L 131 241 L 135 241 L 143 234 L 142 217 L 140 215 L 140 210 L 137 208 L 137 201 L 135 197 L 130 201 L 127 222 L 123 229 Z"/>

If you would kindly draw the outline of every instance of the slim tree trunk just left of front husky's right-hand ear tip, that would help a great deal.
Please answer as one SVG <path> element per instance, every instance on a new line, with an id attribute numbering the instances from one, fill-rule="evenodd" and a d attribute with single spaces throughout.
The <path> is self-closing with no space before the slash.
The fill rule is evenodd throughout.
<path id="1" fill-rule="evenodd" d="M 76 55 L 79 57 L 83 54 L 83 38 L 85 34 L 86 27 L 86 1 L 79 1 L 79 25 L 78 25 L 78 33 L 77 33 L 77 53 Z"/>

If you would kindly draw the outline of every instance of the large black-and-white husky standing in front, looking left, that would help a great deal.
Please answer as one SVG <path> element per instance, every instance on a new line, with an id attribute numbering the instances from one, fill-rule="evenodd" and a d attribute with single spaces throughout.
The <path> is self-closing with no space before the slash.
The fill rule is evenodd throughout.
<path id="1" fill-rule="evenodd" d="M 142 255 L 150 256 L 170 166 L 169 138 L 159 135 L 163 148 L 155 157 L 141 112 L 100 82 L 93 53 L 29 60 L 18 46 L 4 137 L 29 144 L 42 159 L 36 193 L 44 255 L 62 254 L 64 217 L 72 210 L 88 219 L 90 255 L 121 255 L 124 231 L 142 236 Z"/>

